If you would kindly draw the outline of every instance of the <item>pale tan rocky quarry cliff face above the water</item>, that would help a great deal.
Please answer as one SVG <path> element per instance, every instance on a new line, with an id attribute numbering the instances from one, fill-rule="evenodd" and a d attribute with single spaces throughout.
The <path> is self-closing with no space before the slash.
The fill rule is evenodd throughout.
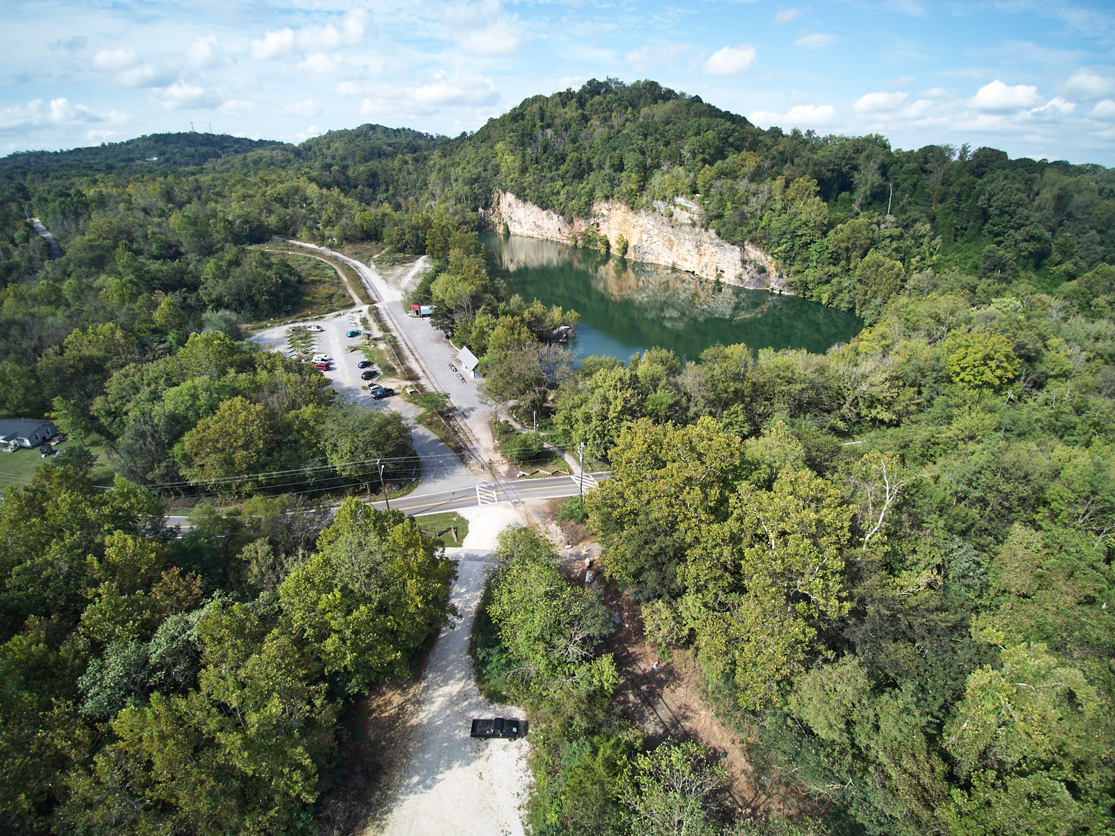
<path id="1" fill-rule="evenodd" d="M 565 243 L 574 234 L 594 231 L 608 238 L 613 252 L 622 236 L 628 244 L 627 257 L 633 261 L 676 267 L 728 285 L 793 292 L 769 256 L 752 244 L 730 244 L 716 232 L 701 229 L 699 214 L 692 209 L 688 202 L 669 205 L 658 201 L 655 211 L 636 212 L 623 203 L 607 201 L 593 205 L 592 218 L 574 218 L 566 223 L 561 215 L 511 192 L 497 192 L 487 218 L 497 230 L 506 224 L 516 236 Z"/>

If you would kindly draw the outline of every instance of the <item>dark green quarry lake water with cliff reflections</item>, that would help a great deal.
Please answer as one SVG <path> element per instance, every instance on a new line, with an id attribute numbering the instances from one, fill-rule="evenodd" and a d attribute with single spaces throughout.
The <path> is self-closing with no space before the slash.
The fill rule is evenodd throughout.
<path id="1" fill-rule="evenodd" d="M 696 359 L 711 345 L 824 353 L 859 334 L 851 314 L 668 267 L 518 236 L 484 236 L 508 290 L 581 315 L 573 353 L 627 359 L 653 346 Z"/>

